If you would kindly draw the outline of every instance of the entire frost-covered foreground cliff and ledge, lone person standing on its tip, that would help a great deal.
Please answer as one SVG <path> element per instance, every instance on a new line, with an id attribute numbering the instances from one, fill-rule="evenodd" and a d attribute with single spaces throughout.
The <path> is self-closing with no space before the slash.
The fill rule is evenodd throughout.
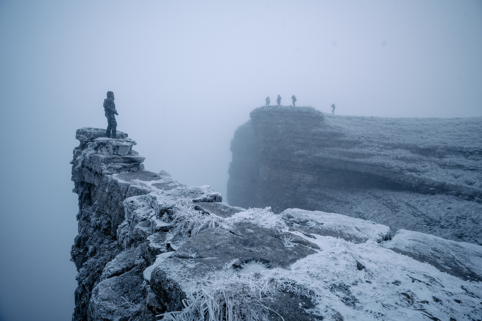
<path id="1" fill-rule="evenodd" d="M 298 125 L 320 119 L 310 125 L 300 117 Z M 392 235 L 342 214 L 230 206 L 209 186 L 145 171 L 127 134 L 104 133 L 87 127 L 76 135 L 73 320 L 477 320 L 482 313 L 482 246 Z"/>

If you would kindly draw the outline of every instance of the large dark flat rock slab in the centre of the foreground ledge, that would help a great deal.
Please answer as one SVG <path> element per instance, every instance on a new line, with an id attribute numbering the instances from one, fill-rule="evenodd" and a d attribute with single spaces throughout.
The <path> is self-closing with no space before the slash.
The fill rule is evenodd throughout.
<path id="1" fill-rule="evenodd" d="M 203 279 L 215 281 L 233 273 L 245 273 L 245 268 L 253 269 L 253 266 L 286 268 L 317 253 L 299 244 L 286 247 L 282 239 L 280 231 L 249 222 L 229 230 L 205 229 L 152 271 L 152 291 L 158 297 L 169 297 L 166 308 L 173 311 L 182 308 L 185 294 L 194 291 Z"/>

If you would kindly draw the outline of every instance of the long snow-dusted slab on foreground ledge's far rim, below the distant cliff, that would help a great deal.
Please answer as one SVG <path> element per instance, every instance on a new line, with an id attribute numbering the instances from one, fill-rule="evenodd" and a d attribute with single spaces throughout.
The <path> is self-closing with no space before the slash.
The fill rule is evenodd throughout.
<path id="1" fill-rule="evenodd" d="M 355 243 L 368 240 L 381 242 L 391 237 L 388 226 L 342 214 L 289 208 L 280 215 L 291 231 L 305 234 L 339 237 Z"/>

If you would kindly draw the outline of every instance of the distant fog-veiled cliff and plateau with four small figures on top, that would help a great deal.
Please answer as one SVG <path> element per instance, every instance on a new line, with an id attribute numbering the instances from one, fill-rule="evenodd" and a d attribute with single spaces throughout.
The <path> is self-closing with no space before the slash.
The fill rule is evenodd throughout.
<path id="1" fill-rule="evenodd" d="M 229 204 L 298 207 L 482 244 L 482 119 L 254 109 L 231 141 Z"/>

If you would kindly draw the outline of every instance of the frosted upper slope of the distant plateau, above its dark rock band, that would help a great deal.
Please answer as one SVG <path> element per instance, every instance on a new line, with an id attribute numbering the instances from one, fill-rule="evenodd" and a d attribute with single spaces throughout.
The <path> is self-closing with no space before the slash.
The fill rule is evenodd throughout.
<path id="1" fill-rule="evenodd" d="M 482 188 L 482 117 L 323 116 L 323 132 L 341 134 L 337 138 L 339 141 L 354 145 L 352 148 L 324 148 L 320 157 L 346 158 L 415 177 Z M 424 149 L 430 152 L 422 156 Z"/>

